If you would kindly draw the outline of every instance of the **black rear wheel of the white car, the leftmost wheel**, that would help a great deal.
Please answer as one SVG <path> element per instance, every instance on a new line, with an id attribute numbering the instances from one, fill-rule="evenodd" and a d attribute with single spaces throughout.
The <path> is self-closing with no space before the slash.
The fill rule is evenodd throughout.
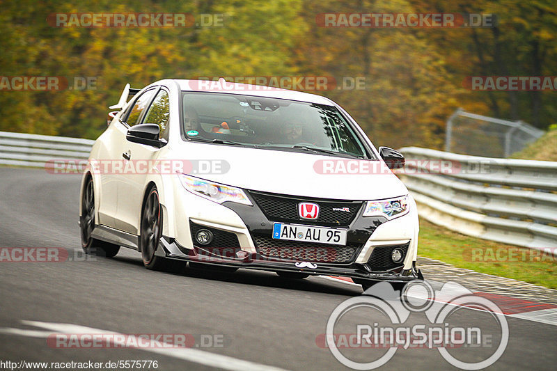
<path id="1" fill-rule="evenodd" d="M 118 245 L 91 237 L 93 229 L 95 229 L 95 188 L 93 187 L 93 179 L 91 177 L 87 179 L 83 197 L 81 198 L 79 229 L 81 232 L 81 247 L 86 254 L 112 258 L 120 251 L 120 246 Z"/>

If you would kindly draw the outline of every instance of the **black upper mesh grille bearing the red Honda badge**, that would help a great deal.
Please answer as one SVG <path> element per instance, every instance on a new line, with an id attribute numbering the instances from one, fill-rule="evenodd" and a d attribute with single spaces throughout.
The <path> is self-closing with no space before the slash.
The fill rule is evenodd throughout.
<path id="1" fill-rule="evenodd" d="M 264 194 L 256 191 L 250 191 L 250 194 L 256 200 L 263 214 L 271 221 L 310 223 L 318 226 L 348 226 L 352 223 L 362 205 L 361 201 L 331 201 L 319 198 Z M 319 217 L 315 220 L 301 219 L 298 215 L 298 204 L 301 202 L 319 205 Z"/>

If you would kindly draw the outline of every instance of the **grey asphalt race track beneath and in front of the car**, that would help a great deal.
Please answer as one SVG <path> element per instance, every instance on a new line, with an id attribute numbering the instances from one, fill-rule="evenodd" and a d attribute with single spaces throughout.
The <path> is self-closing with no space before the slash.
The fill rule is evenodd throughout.
<path id="1" fill-rule="evenodd" d="M 115 258 L 85 257 L 77 226 L 79 182 L 76 175 L 0 168 L 0 247 L 59 247 L 69 255 L 64 262 L 0 262 L 0 368 L 6 368 L 2 362 L 22 360 L 152 360 L 157 361 L 157 370 L 346 368 L 329 349 L 318 346 L 316 338 L 325 333 L 338 304 L 361 294 L 359 287 L 319 277 L 291 281 L 260 271 L 148 271 L 139 253 L 125 248 Z M 554 370 L 557 326 L 510 317 L 507 321 L 508 346 L 491 368 Z M 377 312 L 354 310 L 340 320 L 335 332 L 354 333 L 356 324 L 384 322 Z M 413 313 L 406 325 L 429 323 L 423 313 Z M 489 341 L 499 341 L 500 330 L 491 315 L 461 308 L 452 323 L 477 326 L 487 340 L 481 347 L 460 347 L 450 354 L 472 362 L 494 352 L 496 344 L 489 347 Z M 196 345 L 192 352 L 182 352 L 61 349 L 47 342 L 49 332 L 76 333 L 80 329 L 76 326 L 87 326 L 91 333 L 185 333 L 196 339 Z M 218 340 L 219 346 L 202 344 L 201 338 Z M 385 352 L 346 349 L 343 354 L 370 362 Z M 398 349 L 382 368 L 455 367 L 437 349 Z"/>

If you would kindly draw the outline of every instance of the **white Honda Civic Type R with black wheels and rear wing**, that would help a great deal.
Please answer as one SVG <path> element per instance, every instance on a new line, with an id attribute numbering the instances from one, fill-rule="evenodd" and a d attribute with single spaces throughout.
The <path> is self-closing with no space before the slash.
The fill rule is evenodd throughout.
<path id="1" fill-rule="evenodd" d="M 391 171 L 404 157 L 326 97 L 166 79 L 128 84 L 111 109 L 81 182 L 86 253 L 364 289 L 423 278 L 416 203 Z"/>

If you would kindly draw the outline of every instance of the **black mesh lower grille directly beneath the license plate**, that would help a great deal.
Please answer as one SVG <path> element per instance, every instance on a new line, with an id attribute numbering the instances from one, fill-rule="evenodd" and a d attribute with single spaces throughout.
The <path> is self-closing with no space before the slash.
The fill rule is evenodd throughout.
<path id="1" fill-rule="evenodd" d="M 350 263 L 361 249 L 361 244 L 312 244 L 262 236 L 256 236 L 255 242 L 261 258 L 280 261 Z"/>

